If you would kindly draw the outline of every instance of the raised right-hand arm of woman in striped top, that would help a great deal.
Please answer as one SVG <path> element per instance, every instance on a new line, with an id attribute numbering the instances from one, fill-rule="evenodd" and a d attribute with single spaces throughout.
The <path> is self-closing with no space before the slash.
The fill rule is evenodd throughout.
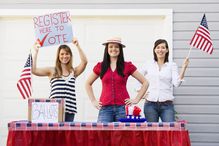
<path id="1" fill-rule="evenodd" d="M 84 71 L 85 67 L 87 66 L 87 57 L 83 52 L 83 50 L 81 49 L 79 42 L 76 38 L 73 38 L 72 43 L 77 47 L 81 59 L 80 64 L 74 69 L 75 71 L 74 74 L 77 77 Z"/>

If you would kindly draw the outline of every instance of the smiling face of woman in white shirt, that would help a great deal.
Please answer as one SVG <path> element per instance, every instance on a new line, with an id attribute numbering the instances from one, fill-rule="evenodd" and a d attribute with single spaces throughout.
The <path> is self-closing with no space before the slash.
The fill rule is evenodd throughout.
<path id="1" fill-rule="evenodd" d="M 168 51 L 169 50 L 166 47 L 165 43 L 161 43 L 161 44 L 157 45 L 156 48 L 154 49 L 154 52 L 155 52 L 158 59 L 164 59 L 166 56 L 166 53 Z"/>

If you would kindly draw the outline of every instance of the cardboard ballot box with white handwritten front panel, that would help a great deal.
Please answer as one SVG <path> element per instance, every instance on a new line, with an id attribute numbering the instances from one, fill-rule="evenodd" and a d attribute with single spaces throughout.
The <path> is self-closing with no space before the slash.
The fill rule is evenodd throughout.
<path id="1" fill-rule="evenodd" d="M 32 123 L 63 122 L 64 99 L 28 99 L 28 120 Z"/>

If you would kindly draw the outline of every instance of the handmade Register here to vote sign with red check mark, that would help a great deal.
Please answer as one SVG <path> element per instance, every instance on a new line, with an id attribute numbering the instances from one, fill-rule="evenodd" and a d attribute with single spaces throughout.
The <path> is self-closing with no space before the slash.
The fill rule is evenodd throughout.
<path id="1" fill-rule="evenodd" d="M 70 12 L 57 12 L 33 17 L 36 40 L 42 47 L 72 42 Z"/>

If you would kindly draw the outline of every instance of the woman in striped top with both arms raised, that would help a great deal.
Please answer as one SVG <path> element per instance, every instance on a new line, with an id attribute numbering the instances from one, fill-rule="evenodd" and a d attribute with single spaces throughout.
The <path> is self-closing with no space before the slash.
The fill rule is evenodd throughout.
<path id="1" fill-rule="evenodd" d="M 67 45 L 60 45 L 57 50 L 57 57 L 54 67 L 37 67 L 37 54 L 40 48 L 40 42 L 37 41 L 34 45 L 33 67 L 32 73 L 37 76 L 48 76 L 51 83 L 50 98 L 64 98 L 65 99 L 65 121 L 72 122 L 76 107 L 75 95 L 75 80 L 85 69 L 87 65 L 87 58 L 81 49 L 79 42 L 73 38 L 72 43 L 77 47 L 81 62 L 78 66 L 72 66 L 72 51 Z"/>

